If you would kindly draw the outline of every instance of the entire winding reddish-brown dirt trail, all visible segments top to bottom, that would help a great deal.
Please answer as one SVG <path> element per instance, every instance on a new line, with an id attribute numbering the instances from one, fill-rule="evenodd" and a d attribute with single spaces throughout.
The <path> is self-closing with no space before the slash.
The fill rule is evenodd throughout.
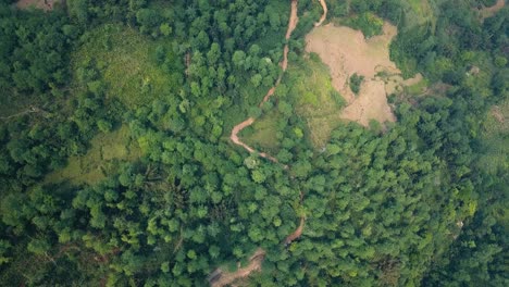
<path id="1" fill-rule="evenodd" d="M 323 8 L 323 15 L 320 18 L 320 21 L 314 24 L 315 27 L 322 25 L 322 23 L 325 21 L 326 15 L 327 15 L 327 5 L 326 5 L 325 1 L 324 0 L 319 0 L 319 1 L 320 1 L 320 3 L 322 4 L 322 8 Z M 297 27 L 297 23 L 299 21 L 298 16 L 297 16 L 297 2 L 298 2 L 298 0 L 291 0 L 290 17 L 289 17 L 289 22 L 288 22 L 288 28 L 287 28 L 286 35 L 285 35 L 286 40 L 289 40 L 289 38 L 291 37 L 291 33 Z M 283 74 L 286 71 L 286 68 L 288 67 L 288 50 L 289 50 L 288 43 L 286 43 L 284 49 L 283 49 L 283 60 L 280 62 L 280 66 L 282 67 L 283 73 L 280 75 L 280 77 L 277 78 L 274 86 L 271 89 L 269 89 L 266 95 L 263 97 L 263 100 L 260 102 L 259 107 L 261 107 L 264 102 L 266 102 L 272 97 L 272 95 L 274 95 L 275 89 L 280 85 L 281 79 L 283 77 Z M 256 152 L 256 150 L 253 148 L 249 147 L 248 145 L 246 145 L 244 141 L 241 141 L 238 138 L 238 133 L 240 133 L 240 130 L 243 130 L 244 128 L 252 125 L 253 123 L 254 123 L 253 117 L 246 118 L 240 124 L 234 126 L 234 128 L 232 129 L 232 134 L 229 136 L 229 139 L 235 145 L 243 147 L 244 149 L 246 149 L 250 153 Z M 266 152 L 259 152 L 259 154 L 260 154 L 260 157 L 265 158 L 265 159 L 268 159 L 270 161 L 273 161 L 275 163 L 278 162 L 277 159 L 275 159 L 274 157 L 268 154 Z M 285 169 L 288 169 L 288 166 L 285 165 Z M 299 202 L 300 205 L 302 205 L 302 201 L 303 201 L 303 194 L 302 194 L 302 191 L 300 191 L 300 202 Z M 283 241 L 283 244 L 285 246 L 288 246 L 289 244 L 291 244 L 294 240 L 298 239 L 302 235 L 305 223 L 306 223 L 306 216 L 302 215 L 302 216 L 300 216 L 299 226 L 295 229 L 295 232 L 293 232 L 290 235 L 288 235 L 286 237 L 286 239 Z M 212 287 L 227 286 L 227 285 L 233 284 L 237 279 L 241 279 L 241 278 L 245 278 L 245 277 L 249 276 L 254 271 L 261 271 L 261 264 L 262 264 L 264 258 L 265 258 L 265 250 L 263 250 L 261 248 L 258 248 L 257 251 L 254 251 L 254 253 L 249 258 L 249 265 L 247 265 L 246 267 L 240 267 L 239 266 L 239 269 L 237 271 L 235 271 L 235 272 L 224 272 L 221 269 L 216 269 L 216 270 L 214 270 L 214 272 L 212 272 L 209 275 L 209 278 L 208 278 L 209 284 Z"/>

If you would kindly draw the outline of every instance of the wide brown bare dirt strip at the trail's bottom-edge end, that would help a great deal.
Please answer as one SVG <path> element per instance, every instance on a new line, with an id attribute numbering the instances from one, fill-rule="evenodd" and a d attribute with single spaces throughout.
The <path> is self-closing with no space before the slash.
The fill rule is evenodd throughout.
<path id="1" fill-rule="evenodd" d="M 257 249 L 254 253 L 249 258 L 249 265 L 246 267 L 239 267 L 235 272 L 224 272 L 221 269 L 216 269 L 209 275 L 209 284 L 212 287 L 227 286 L 235 280 L 243 279 L 252 272 L 261 271 L 261 264 L 265 258 L 265 251 L 261 248 Z"/>

